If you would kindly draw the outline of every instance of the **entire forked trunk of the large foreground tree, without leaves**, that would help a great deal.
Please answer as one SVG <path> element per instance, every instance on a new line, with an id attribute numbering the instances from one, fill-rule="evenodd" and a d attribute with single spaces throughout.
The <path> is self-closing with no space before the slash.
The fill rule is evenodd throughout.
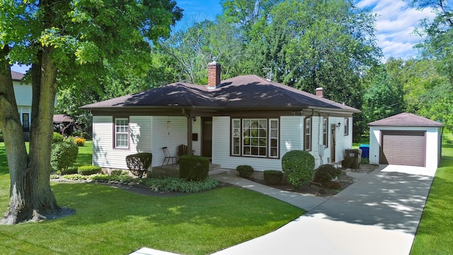
<path id="1" fill-rule="evenodd" d="M 11 225 L 62 216 L 62 210 L 50 188 L 52 117 L 57 91 L 57 69 L 50 60 L 52 52 L 53 48 L 45 48 L 38 54 L 38 64 L 32 66 L 33 102 L 29 157 L 14 97 L 11 69 L 9 65 L 5 65 L 6 61 L 1 63 L 0 128 L 4 133 L 11 175 L 10 203 L 4 219 L 0 221 L 2 224 Z M 64 210 L 64 213 L 73 212 Z"/>

